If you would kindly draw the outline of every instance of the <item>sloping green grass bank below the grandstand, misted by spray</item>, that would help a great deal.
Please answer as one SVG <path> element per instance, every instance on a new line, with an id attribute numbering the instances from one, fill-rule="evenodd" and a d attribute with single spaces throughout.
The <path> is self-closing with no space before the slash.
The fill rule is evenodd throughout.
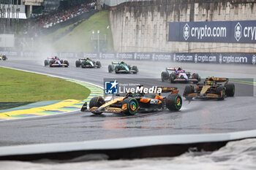
<path id="1" fill-rule="evenodd" d="M 53 49 L 60 52 L 93 52 L 91 45 L 92 31 L 100 31 L 100 34 L 106 34 L 110 37 L 109 49 L 113 49 L 113 39 L 111 31 L 107 28 L 109 23 L 109 12 L 101 11 L 92 15 L 88 20 L 83 21 L 69 34 L 53 43 Z"/>

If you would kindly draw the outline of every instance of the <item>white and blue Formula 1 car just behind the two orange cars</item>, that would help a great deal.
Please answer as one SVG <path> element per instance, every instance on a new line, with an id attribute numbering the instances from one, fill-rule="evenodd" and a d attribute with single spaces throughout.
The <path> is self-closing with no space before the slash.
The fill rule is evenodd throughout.
<path id="1" fill-rule="evenodd" d="M 167 67 L 165 72 L 161 74 L 162 82 L 170 81 L 174 82 L 200 82 L 200 77 L 197 73 L 185 72 L 181 67 Z"/>

